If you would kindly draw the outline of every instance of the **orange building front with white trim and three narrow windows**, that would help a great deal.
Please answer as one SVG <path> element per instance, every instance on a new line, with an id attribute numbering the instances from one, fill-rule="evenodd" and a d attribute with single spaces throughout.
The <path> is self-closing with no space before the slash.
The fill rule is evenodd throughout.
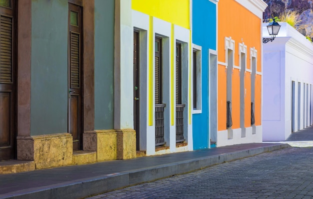
<path id="1" fill-rule="evenodd" d="M 217 146 L 262 141 L 261 24 L 266 6 L 262 0 L 218 2 Z"/>

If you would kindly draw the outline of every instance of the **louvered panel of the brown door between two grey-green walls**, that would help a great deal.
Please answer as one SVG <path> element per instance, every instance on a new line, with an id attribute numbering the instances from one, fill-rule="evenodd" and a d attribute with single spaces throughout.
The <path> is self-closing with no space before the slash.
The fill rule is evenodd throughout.
<path id="1" fill-rule="evenodd" d="M 79 33 L 70 32 L 70 88 L 79 88 Z"/>

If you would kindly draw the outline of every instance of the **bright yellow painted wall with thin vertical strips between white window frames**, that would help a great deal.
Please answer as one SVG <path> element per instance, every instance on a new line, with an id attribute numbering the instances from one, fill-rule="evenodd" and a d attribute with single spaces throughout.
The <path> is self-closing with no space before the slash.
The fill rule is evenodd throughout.
<path id="1" fill-rule="evenodd" d="M 133 10 L 145 13 L 149 15 L 149 67 L 148 67 L 148 77 L 149 77 L 149 84 L 148 84 L 148 125 L 153 125 L 153 41 L 154 41 L 154 35 L 153 35 L 153 18 L 158 18 L 161 20 L 164 20 L 166 22 L 169 22 L 171 24 L 171 41 L 174 41 L 174 25 L 181 26 L 183 28 L 190 30 L 190 0 L 132 0 L 131 1 L 131 8 Z M 190 38 L 188 41 L 191 41 L 191 33 L 189 34 Z M 174 49 L 175 43 L 171 42 L 170 47 L 171 49 Z M 191 56 L 191 45 L 189 49 L 189 57 Z M 170 84 L 170 91 L 171 93 L 174 93 L 174 56 L 175 51 L 171 50 L 171 84 Z M 189 63 L 190 66 L 191 63 Z M 191 79 L 188 80 L 189 87 L 191 87 Z M 191 94 L 189 92 L 188 99 L 191 99 Z M 174 103 L 175 99 L 174 96 L 171 96 L 170 103 L 173 105 L 171 108 L 171 121 L 170 124 L 174 125 Z M 188 110 L 189 115 L 189 124 L 191 123 L 191 106 Z"/>

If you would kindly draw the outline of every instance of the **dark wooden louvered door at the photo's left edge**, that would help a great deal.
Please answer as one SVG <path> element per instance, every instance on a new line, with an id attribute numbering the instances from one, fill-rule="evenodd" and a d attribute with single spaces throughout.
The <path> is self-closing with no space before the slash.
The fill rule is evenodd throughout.
<path id="1" fill-rule="evenodd" d="M 0 161 L 14 159 L 16 43 L 14 0 L 0 1 Z"/>

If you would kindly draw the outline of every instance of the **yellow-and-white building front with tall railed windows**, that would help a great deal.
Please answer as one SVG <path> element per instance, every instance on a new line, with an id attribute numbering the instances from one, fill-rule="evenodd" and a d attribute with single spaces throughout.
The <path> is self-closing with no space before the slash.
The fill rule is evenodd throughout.
<path id="1" fill-rule="evenodd" d="M 133 121 L 137 151 L 146 155 L 192 150 L 190 7 L 131 1 Z"/>

